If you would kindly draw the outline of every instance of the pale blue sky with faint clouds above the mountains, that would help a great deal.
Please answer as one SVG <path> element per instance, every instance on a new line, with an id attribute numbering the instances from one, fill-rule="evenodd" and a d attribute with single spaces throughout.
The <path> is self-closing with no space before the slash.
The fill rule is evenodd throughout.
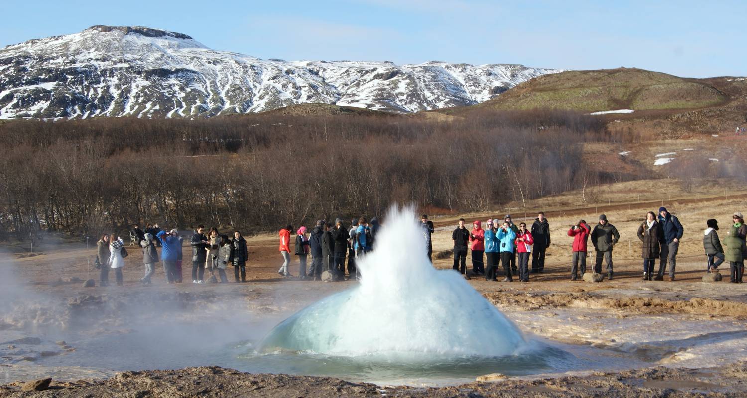
<path id="1" fill-rule="evenodd" d="M 0 0 L 0 12 L 0 47 L 91 25 L 143 25 L 189 34 L 213 49 L 285 60 L 747 75 L 743 0 Z"/>

